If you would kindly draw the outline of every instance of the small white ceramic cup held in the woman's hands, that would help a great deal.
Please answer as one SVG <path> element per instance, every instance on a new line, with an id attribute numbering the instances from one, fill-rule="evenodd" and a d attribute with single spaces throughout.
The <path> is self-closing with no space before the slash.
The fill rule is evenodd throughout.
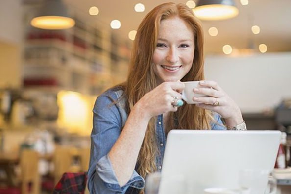
<path id="1" fill-rule="evenodd" d="M 202 87 L 199 85 L 199 81 L 185 81 L 185 88 L 182 92 L 182 99 L 187 102 L 187 104 L 198 104 L 199 102 L 194 102 L 193 97 L 205 97 L 205 95 L 194 93 L 194 88 Z"/>

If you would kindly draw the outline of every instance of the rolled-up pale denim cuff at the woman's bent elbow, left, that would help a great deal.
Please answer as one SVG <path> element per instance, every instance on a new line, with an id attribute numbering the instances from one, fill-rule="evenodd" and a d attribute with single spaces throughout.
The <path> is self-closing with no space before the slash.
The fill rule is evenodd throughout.
<path id="1" fill-rule="evenodd" d="M 113 171 L 108 154 L 103 156 L 96 165 L 96 171 L 99 177 L 103 180 L 107 189 L 114 191 L 126 191 L 128 187 L 143 189 L 145 187 L 145 180 L 135 170 L 130 180 L 122 187 L 120 187 L 117 177 Z"/>

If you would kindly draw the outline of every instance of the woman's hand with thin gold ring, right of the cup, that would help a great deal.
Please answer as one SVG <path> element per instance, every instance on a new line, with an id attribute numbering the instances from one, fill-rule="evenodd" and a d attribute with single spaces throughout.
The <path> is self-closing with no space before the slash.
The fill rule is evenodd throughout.
<path id="1" fill-rule="evenodd" d="M 206 97 L 194 97 L 197 107 L 212 110 L 225 119 L 228 126 L 242 123 L 242 113 L 239 106 L 220 88 L 215 81 L 200 81 L 200 87 L 194 89 L 194 93 L 206 95 Z"/>

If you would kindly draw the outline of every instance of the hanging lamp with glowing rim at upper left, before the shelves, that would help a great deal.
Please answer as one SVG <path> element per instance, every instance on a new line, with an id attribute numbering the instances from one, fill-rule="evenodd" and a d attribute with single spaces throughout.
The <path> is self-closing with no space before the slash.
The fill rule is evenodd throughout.
<path id="1" fill-rule="evenodd" d="M 67 8 L 61 0 L 46 0 L 39 15 L 30 24 L 41 29 L 67 29 L 73 27 L 75 21 L 68 17 Z"/>

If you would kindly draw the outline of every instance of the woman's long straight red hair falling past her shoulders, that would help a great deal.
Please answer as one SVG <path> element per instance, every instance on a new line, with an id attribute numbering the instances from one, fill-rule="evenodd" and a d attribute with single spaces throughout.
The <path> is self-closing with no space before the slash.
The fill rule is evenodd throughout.
<path id="1" fill-rule="evenodd" d="M 124 95 L 127 98 L 126 107 L 128 113 L 146 93 L 157 87 L 152 57 L 157 44 L 158 29 L 161 20 L 174 16 L 184 20 L 194 32 L 193 65 L 181 81 L 204 79 L 204 37 L 200 22 L 194 16 L 193 11 L 184 4 L 164 3 L 158 5 L 145 16 L 138 27 L 135 37 L 129 74 L 126 82 L 122 84 Z M 154 117 L 149 121 L 138 157 L 138 172 L 144 178 L 148 173 L 156 170 L 155 158 L 156 154 L 158 154 L 155 133 L 156 120 L 157 118 Z M 169 113 L 166 133 L 170 129 L 209 129 L 211 120 L 212 116 L 209 111 L 185 104 L 178 111 Z"/>

